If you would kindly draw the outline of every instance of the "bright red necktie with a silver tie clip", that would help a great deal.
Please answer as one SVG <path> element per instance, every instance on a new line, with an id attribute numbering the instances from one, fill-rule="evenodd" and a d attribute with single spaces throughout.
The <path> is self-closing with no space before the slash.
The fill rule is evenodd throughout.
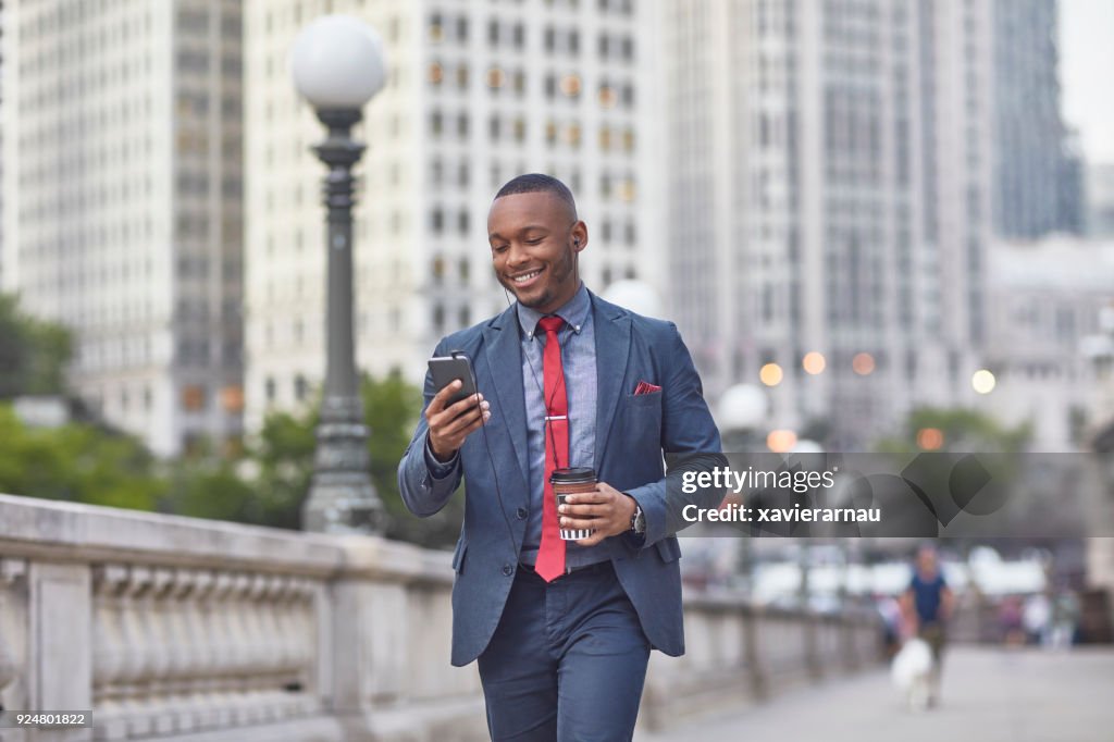
<path id="1" fill-rule="evenodd" d="M 557 525 L 557 499 L 549 482 L 554 469 L 568 466 L 568 397 L 565 393 L 565 370 L 560 363 L 560 344 L 557 331 L 565 324 L 559 316 L 544 316 L 538 326 L 546 332 L 546 350 L 543 354 L 546 406 L 546 473 L 541 492 L 541 546 L 534 570 L 546 580 L 565 574 L 565 541 Z"/>

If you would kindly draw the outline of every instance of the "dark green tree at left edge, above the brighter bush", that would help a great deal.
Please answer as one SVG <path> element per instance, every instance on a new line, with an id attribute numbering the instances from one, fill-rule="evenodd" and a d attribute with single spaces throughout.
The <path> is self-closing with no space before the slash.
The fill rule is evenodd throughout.
<path id="1" fill-rule="evenodd" d="M 0 294 L 0 399 L 61 394 L 70 353 L 66 328 L 22 314 L 14 296 Z"/>

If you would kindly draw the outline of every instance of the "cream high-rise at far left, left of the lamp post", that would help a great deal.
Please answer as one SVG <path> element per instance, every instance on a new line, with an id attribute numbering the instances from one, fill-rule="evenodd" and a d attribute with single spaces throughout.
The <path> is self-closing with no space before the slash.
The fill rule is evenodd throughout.
<path id="1" fill-rule="evenodd" d="M 172 455 L 241 431 L 241 7 L 21 3 L 3 35 L 4 283 L 74 390 Z"/>

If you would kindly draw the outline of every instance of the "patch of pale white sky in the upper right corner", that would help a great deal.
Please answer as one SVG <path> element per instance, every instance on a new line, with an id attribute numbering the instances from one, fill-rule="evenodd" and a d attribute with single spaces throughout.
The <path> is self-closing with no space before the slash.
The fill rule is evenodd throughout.
<path id="1" fill-rule="evenodd" d="M 1114 0 L 1059 0 L 1059 81 L 1087 160 L 1114 164 Z"/>

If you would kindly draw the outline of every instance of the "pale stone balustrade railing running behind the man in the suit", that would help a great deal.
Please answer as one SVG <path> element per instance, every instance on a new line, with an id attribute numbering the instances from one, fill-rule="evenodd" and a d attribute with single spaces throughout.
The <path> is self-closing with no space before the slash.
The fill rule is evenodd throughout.
<path id="1" fill-rule="evenodd" d="M 0 495 L 0 704 L 91 710 L 32 740 L 487 739 L 449 665 L 449 555 Z M 761 699 L 877 655 L 869 622 L 686 601 L 641 724 Z"/>

